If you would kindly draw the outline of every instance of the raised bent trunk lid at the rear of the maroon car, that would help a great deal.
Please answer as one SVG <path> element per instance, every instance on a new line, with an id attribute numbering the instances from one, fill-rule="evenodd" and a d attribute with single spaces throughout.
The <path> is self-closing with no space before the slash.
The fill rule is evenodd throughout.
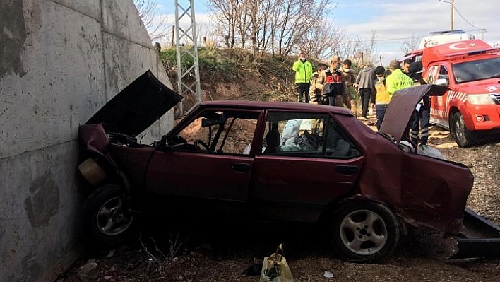
<path id="1" fill-rule="evenodd" d="M 383 117 L 381 134 L 392 136 L 397 143 L 403 138 L 403 134 L 407 127 L 413 110 L 417 103 L 428 96 L 441 96 L 449 90 L 446 86 L 438 86 L 434 84 L 426 84 L 423 86 L 412 86 L 403 88 L 394 93 L 391 98 L 391 103 L 387 108 L 385 117 Z"/>

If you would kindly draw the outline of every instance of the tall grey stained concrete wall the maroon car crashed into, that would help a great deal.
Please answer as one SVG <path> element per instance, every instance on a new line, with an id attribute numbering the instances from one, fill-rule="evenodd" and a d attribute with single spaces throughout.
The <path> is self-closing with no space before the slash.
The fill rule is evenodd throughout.
<path id="1" fill-rule="evenodd" d="M 0 281 L 78 257 L 78 125 L 148 69 L 172 88 L 132 0 L 0 1 Z"/>

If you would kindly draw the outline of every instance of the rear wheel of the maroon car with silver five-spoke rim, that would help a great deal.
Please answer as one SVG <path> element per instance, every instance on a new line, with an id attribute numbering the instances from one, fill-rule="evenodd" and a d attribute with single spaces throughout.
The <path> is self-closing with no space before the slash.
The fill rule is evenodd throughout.
<path id="1" fill-rule="evenodd" d="M 398 218 L 374 201 L 346 202 L 335 213 L 330 228 L 331 247 L 347 262 L 370 262 L 388 257 L 398 245 Z"/>

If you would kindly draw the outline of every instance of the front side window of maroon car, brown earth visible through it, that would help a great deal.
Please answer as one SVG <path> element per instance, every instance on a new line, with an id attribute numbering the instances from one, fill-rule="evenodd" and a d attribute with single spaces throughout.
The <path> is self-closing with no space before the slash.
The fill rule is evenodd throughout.
<path id="1" fill-rule="evenodd" d="M 172 148 L 204 153 L 249 155 L 259 112 L 207 110 L 177 136 Z"/>

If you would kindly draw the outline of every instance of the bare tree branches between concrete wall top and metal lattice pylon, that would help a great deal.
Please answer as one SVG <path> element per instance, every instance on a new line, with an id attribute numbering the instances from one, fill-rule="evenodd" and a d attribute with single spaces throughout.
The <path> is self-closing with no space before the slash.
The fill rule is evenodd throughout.
<path id="1" fill-rule="evenodd" d="M 169 34 L 168 18 L 160 13 L 156 0 L 133 0 L 133 4 L 137 7 L 139 17 L 143 20 L 151 41 L 165 39 Z"/>

